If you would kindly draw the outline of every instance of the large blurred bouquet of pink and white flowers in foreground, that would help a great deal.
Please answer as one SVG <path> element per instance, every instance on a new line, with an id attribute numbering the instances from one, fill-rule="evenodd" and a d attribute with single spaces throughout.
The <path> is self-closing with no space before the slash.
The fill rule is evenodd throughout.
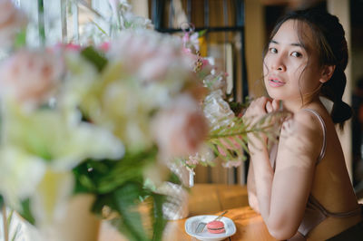
<path id="1" fill-rule="evenodd" d="M 167 162 L 194 153 L 208 131 L 204 88 L 180 39 L 124 30 L 106 48 L 29 48 L 24 32 L 3 34 L 24 23 L 9 0 L 0 1 L 5 8 L 0 36 L 17 40 L 0 63 L 0 205 L 33 224 L 39 239 L 73 240 L 56 229 L 86 193 L 93 212 L 115 214 L 130 240 L 160 240 L 165 197 L 155 187 L 177 181 Z M 150 204 L 144 228 L 142 203 Z"/>

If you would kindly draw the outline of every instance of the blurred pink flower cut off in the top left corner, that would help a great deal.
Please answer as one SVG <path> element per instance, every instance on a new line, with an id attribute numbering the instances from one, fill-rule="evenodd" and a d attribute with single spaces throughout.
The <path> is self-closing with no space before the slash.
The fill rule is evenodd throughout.
<path id="1" fill-rule="evenodd" d="M 0 9 L 0 47 L 10 47 L 16 33 L 26 24 L 25 14 L 10 0 L 0 0 Z"/>

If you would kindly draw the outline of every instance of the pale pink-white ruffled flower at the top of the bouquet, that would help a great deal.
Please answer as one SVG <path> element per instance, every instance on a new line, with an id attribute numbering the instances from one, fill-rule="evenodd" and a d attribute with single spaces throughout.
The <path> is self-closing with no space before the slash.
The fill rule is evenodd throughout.
<path id="1" fill-rule="evenodd" d="M 188 68 L 181 46 L 172 37 L 166 38 L 152 31 L 124 31 L 111 43 L 108 54 L 111 59 L 123 62 L 123 70 L 136 75 L 142 82 L 160 82 L 169 74 L 175 76 L 181 74 L 182 68 L 185 71 Z"/>

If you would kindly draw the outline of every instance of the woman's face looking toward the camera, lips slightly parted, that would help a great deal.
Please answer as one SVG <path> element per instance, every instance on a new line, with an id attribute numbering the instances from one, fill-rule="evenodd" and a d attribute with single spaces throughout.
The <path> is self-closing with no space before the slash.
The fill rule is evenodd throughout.
<path id="1" fill-rule="evenodd" d="M 319 89 L 321 68 L 318 53 L 314 51 L 312 33 L 307 24 L 302 24 L 305 45 L 300 43 L 297 20 L 288 20 L 273 36 L 264 58 L 264 82 L 273 99 L 296 101 L 301 105 L 310 101 Z"/>

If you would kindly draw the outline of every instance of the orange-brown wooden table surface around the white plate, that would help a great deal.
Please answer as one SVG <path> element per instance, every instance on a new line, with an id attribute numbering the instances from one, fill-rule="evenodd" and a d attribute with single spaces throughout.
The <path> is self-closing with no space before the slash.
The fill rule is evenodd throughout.
<path id="1" fill-rule="evenodd" d="M 276 240 L 270 236 L 262 217 L 248 206 L 246 186 L 222 184 L 196 184 L 191 188 L 189 216 L 219 215 L 228 210 L 225 217 L 230 217 L 237 232 L 231 240 Z M 164 241 L 197 240 L 185 232 L 187 218 L 169 221 L 163 233 Z M 103 222 L 99 241 L 126 241 L 118 231 Z M 228 239 L 226 239 L 228 240 Z"/>

